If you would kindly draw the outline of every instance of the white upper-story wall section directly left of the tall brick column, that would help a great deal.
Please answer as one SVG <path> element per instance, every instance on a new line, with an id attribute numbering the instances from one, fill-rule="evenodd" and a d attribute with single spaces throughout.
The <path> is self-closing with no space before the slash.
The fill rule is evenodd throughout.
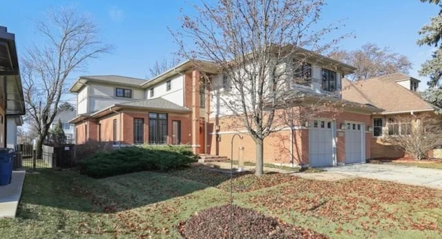
<path id="1" fill-rule="evenodd" d="M 167 90 L 166 82 L 171 80 L 171 90 Z M 146 97 L 149 98 L 164 98 L 168 101 L 171 101 L 177 105 L 184 106 L 184 76 L 178 75 L 173 76 L 170 79 L 167 79 L 166 81 L 162 81 L 161 83 L 158 83 L 157 85 L 153 86 L 153 97 L 151 97 L 150 90 L 152 87 L 149 87 L 146 89 Z"/>

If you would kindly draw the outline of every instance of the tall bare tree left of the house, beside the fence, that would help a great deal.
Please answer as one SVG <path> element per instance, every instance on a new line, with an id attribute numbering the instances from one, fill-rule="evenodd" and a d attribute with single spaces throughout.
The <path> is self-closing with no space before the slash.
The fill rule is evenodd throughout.
<path id="1" fill-rule="evenodd" d="M 108 53 L 97 25 L 75 8 L 51 10 L 35 24 L 44 43 L 26 49 L 21 61 L 23 92 L 31 127 L 38 133 L 37 156 L 59 110 L 71 72 L 84 70 L 88 60 Z"/>

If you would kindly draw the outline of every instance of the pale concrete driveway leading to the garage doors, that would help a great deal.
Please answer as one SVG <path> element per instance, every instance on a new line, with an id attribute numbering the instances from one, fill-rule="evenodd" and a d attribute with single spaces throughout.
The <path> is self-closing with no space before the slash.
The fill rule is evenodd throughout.
<path id="1" fill-rule="evenodd" d="M 326 169 L 328 172 L 345 174 L 349 176 L 389 180 L 397 183 L 442 189 L 441 169 L 425 169 L 421 167 L 398 165 L 376 165 L 370 163 L 326 167 L 324 169 Z"/>

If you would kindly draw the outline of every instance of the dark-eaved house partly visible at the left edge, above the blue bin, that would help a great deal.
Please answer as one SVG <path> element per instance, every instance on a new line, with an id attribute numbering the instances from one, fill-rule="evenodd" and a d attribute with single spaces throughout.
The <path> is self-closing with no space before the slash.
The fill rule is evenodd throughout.
<path id="1" fill-rule="evenodd" d="M 0 26 L 0 148 L 15 148 L 25 114 L 15 35 Z"/>

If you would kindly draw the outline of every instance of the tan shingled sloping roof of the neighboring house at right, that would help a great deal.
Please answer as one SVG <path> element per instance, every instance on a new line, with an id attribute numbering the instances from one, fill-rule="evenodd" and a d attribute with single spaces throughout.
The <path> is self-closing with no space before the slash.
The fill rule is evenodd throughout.
<path id="1" fill-rule="evenodd" d="M 432 111 L 434 105 L 424 101 L 419 94 L 415 94 L 396 83 L 402 74 L 390 74 L 361 81 L 343 79 L 342 96 L 347 101 L 371 104 L 385 110 L 381 114 L 396 114 L 405 112 Z M 396 80 L 395 80 L 396 79 Z"/>

